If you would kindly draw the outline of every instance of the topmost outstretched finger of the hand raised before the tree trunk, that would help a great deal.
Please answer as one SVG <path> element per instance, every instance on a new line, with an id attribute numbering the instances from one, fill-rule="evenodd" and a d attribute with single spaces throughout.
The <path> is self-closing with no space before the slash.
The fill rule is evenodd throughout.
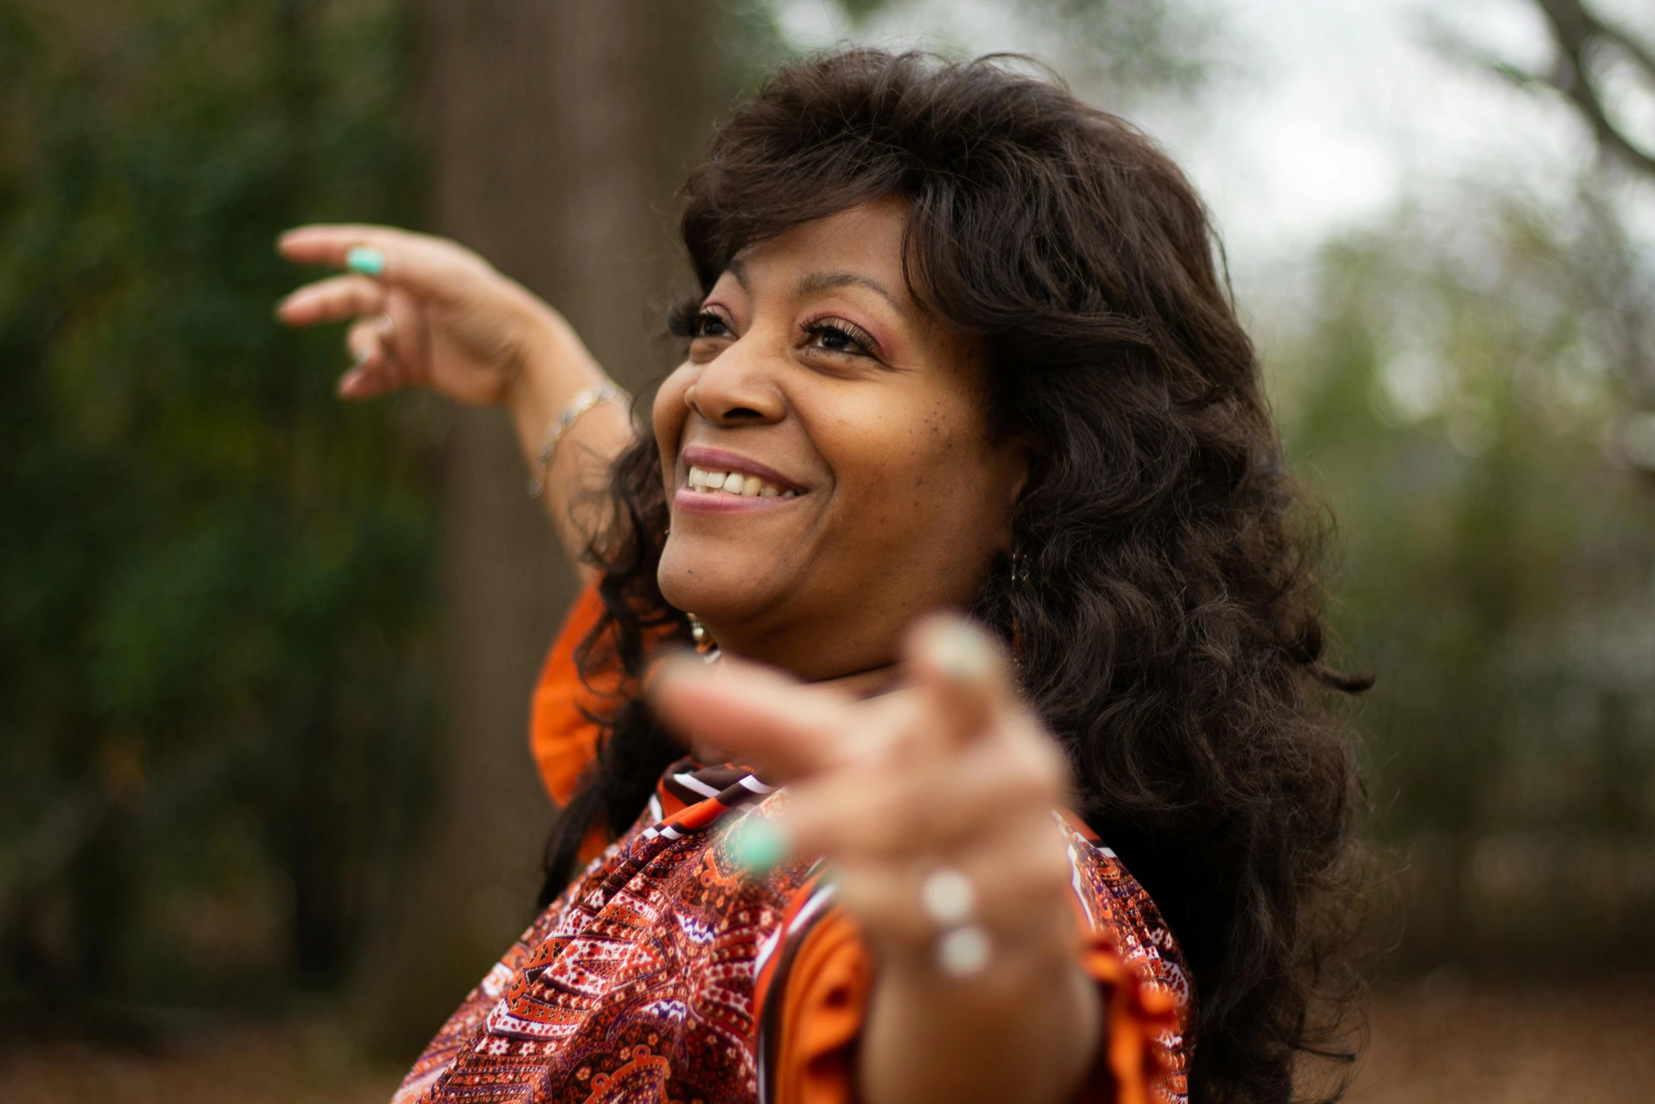
<path id="1" fill-rule="evenodd" d="M 465 276 L 487 268 L 487 262 L 447 238 L 361 223 L 298 227 L 281 235 L 276 250 L 296 263 L 349 266 L 439 301 L 450 300 Z"/>

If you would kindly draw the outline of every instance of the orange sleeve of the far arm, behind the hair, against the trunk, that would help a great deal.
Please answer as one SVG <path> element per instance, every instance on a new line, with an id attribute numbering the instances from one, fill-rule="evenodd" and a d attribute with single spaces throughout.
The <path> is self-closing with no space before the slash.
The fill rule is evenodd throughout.
<path id="1" fill-rule="evenodd" d="M 563 621 L 546 664 L 540 669 L 535 698 L 530 705 L 528 746 L 540 768 L 546 793 L 558 804 L 568 804 L 581 771 L 597 755 L 599 727 L 591 712 L 602 703 L 602 694 L 611 687 L 599 684 L 594 692 L 581 682 L 574 664 L 574 649 L 586 639 L 602 617 L 604 602 L 597 586 L 589 584 L 574 599 L 569 616 Z M 616 672 L 614 689 L 621 684 Z"/>

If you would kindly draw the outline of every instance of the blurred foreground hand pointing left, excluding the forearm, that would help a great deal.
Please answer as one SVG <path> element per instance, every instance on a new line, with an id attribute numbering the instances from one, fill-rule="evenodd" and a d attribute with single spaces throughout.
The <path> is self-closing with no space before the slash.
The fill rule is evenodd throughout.
<path id="1" fill-rule="evenodd" d="M 740 660 L 690 660 L 667 665 L 652 694 L 669 725 L 788 785 L 784 811 L 753 829 L 826 856 L 880 952 L 930 967 L 938 932 L 922 886 L 947 867 L 975 887 L 996 950 L 1069 953 L 1071 872 L 1053 826 L 1064 765 L 1005 657 L 963 621 L 937 617 L 912 634 L 905 675 L 904 689 L 857 702 Z"/>

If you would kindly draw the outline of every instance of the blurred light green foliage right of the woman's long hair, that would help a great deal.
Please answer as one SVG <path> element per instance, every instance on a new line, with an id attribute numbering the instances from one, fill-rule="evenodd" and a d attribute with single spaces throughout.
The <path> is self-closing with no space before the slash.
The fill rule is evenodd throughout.
<path id="1" fill-rule="evenodd" d="M 1278 361 L 1341 525 L 1405 962 L 1655 958 L 1655 482 L 1605 450 L 1635 288 L 1594 204 L 1470 194 L 1329 247 Z M 1298 381 L 1294 386 L 1293 381 Z"/>

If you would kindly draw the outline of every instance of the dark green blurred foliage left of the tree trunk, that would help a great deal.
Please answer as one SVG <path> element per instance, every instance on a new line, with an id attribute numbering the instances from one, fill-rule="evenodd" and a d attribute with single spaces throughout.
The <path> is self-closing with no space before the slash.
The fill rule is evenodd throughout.
<path id="1" fill-rule="evenodd" d="M 0 8 L 13 1006 L 328 983 L 409 834 L 429 432 L 271 321 L 280 228 L 412 212 L 404 33 L 379 0 Z"/>

